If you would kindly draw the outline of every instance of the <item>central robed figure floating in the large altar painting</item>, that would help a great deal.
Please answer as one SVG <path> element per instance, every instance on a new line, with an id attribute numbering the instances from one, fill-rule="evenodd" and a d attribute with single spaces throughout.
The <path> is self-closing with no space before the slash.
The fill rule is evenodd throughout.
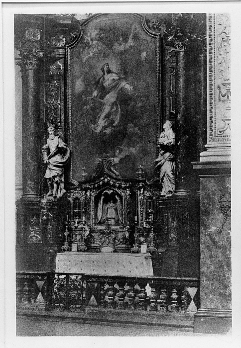
<path id="1" fill-rule="evenodd" d="M 96 124 L 91 124 L 96 133 L 101 131 L 111 133 L 120 120 L 120 104 L 117 100 L 121 89 L 131 92 L 131 87 L 117 73 L 113 72 L 108 63 L 101 68 L 103 75 L 99 79 L 92 98 L 98 99 L 102 104 L 102 110 L 97 116 Z"/>

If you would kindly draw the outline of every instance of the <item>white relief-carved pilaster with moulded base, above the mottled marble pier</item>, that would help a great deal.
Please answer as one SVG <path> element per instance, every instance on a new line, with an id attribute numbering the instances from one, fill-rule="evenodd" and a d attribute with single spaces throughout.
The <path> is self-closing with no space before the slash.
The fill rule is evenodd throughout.
<path id="1" fill-rule="evenodd" d="M 209 13 L 208 60 L 208 139 L 201 162 L 231 159 L 230 16 Z"/>

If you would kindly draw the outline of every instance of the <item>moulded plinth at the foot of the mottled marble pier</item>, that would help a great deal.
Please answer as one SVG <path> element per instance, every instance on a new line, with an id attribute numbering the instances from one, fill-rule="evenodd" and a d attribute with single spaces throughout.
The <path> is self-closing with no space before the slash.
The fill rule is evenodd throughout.
<path id="1" fill-rule="evenodd" d="M 231 310 L 200 308 L 194 314 L 194 333 L 224 335 L 231 328 Z"/>

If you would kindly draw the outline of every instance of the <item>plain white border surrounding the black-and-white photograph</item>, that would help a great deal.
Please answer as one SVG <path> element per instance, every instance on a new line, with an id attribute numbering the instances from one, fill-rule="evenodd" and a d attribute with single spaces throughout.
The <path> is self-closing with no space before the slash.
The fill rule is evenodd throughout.
<path id="1" fill-rule="evenodd" d="M 162 12 L 229 12 L 232 37 L 232 264 L 233 264 L 233 330 L 228 336 L 209 337 L 15 337 L 15 143 L 14 143 L 14 13 L 162 13 Z M 0 149 L 4 171 L 0 208 L 4 215 L 4 253 L 0 270 L 5 272 L 5 327 L 2 347 L 241 347 L 241 2 L 240 1 L 4 1 L 1 2 L 3 63 L 3 122 Z M 1 61 L 0 61 L 1 63 Z M 2 94 L 1 94 L 2 98 Z M 1 129 L 0 129 L 1 131 Z M 0 227 L 1 227 L 0 225 Z M 1 243 L 1 251 L 3 245 Z M 4 269 L 3 269 L 4 264 Z M 3 276 L 2 278 L 3 279 Z M 0 290 L 3 282 L 0 282 Z M 1 297 L 2 298 L 2 297 Z M 1 307 L 3 301 L 1 302 Z M 1 308 L 0 308 L 1 309 Z M 81 325 L 81 324 L 80 324 Z"/>

